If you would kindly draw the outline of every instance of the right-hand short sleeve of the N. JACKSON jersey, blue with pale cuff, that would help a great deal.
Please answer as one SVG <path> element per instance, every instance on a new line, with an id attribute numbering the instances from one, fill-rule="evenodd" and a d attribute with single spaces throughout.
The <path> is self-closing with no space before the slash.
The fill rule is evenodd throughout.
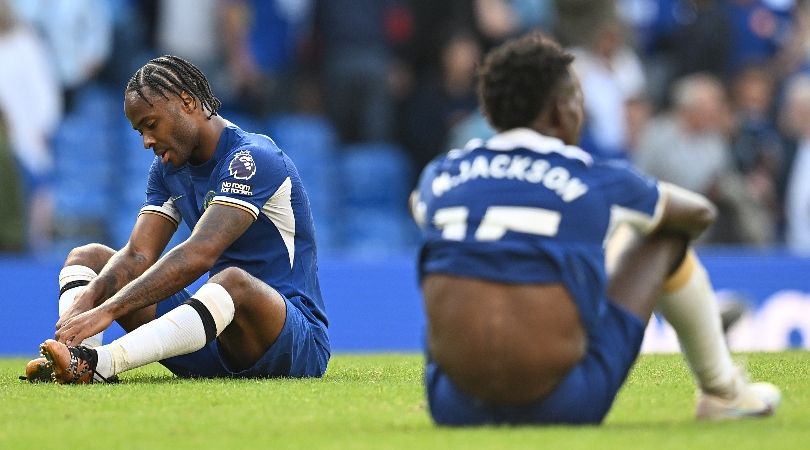
<path id="1" fill-rule="evenodd" d="M 625 161 L 600 163 L 607 182 L 603 185 L 610 202 L 610 221 L 626 223 L 648 234 L 661 221 L 664 196 L 658 180 L 644 175 Z"/>

